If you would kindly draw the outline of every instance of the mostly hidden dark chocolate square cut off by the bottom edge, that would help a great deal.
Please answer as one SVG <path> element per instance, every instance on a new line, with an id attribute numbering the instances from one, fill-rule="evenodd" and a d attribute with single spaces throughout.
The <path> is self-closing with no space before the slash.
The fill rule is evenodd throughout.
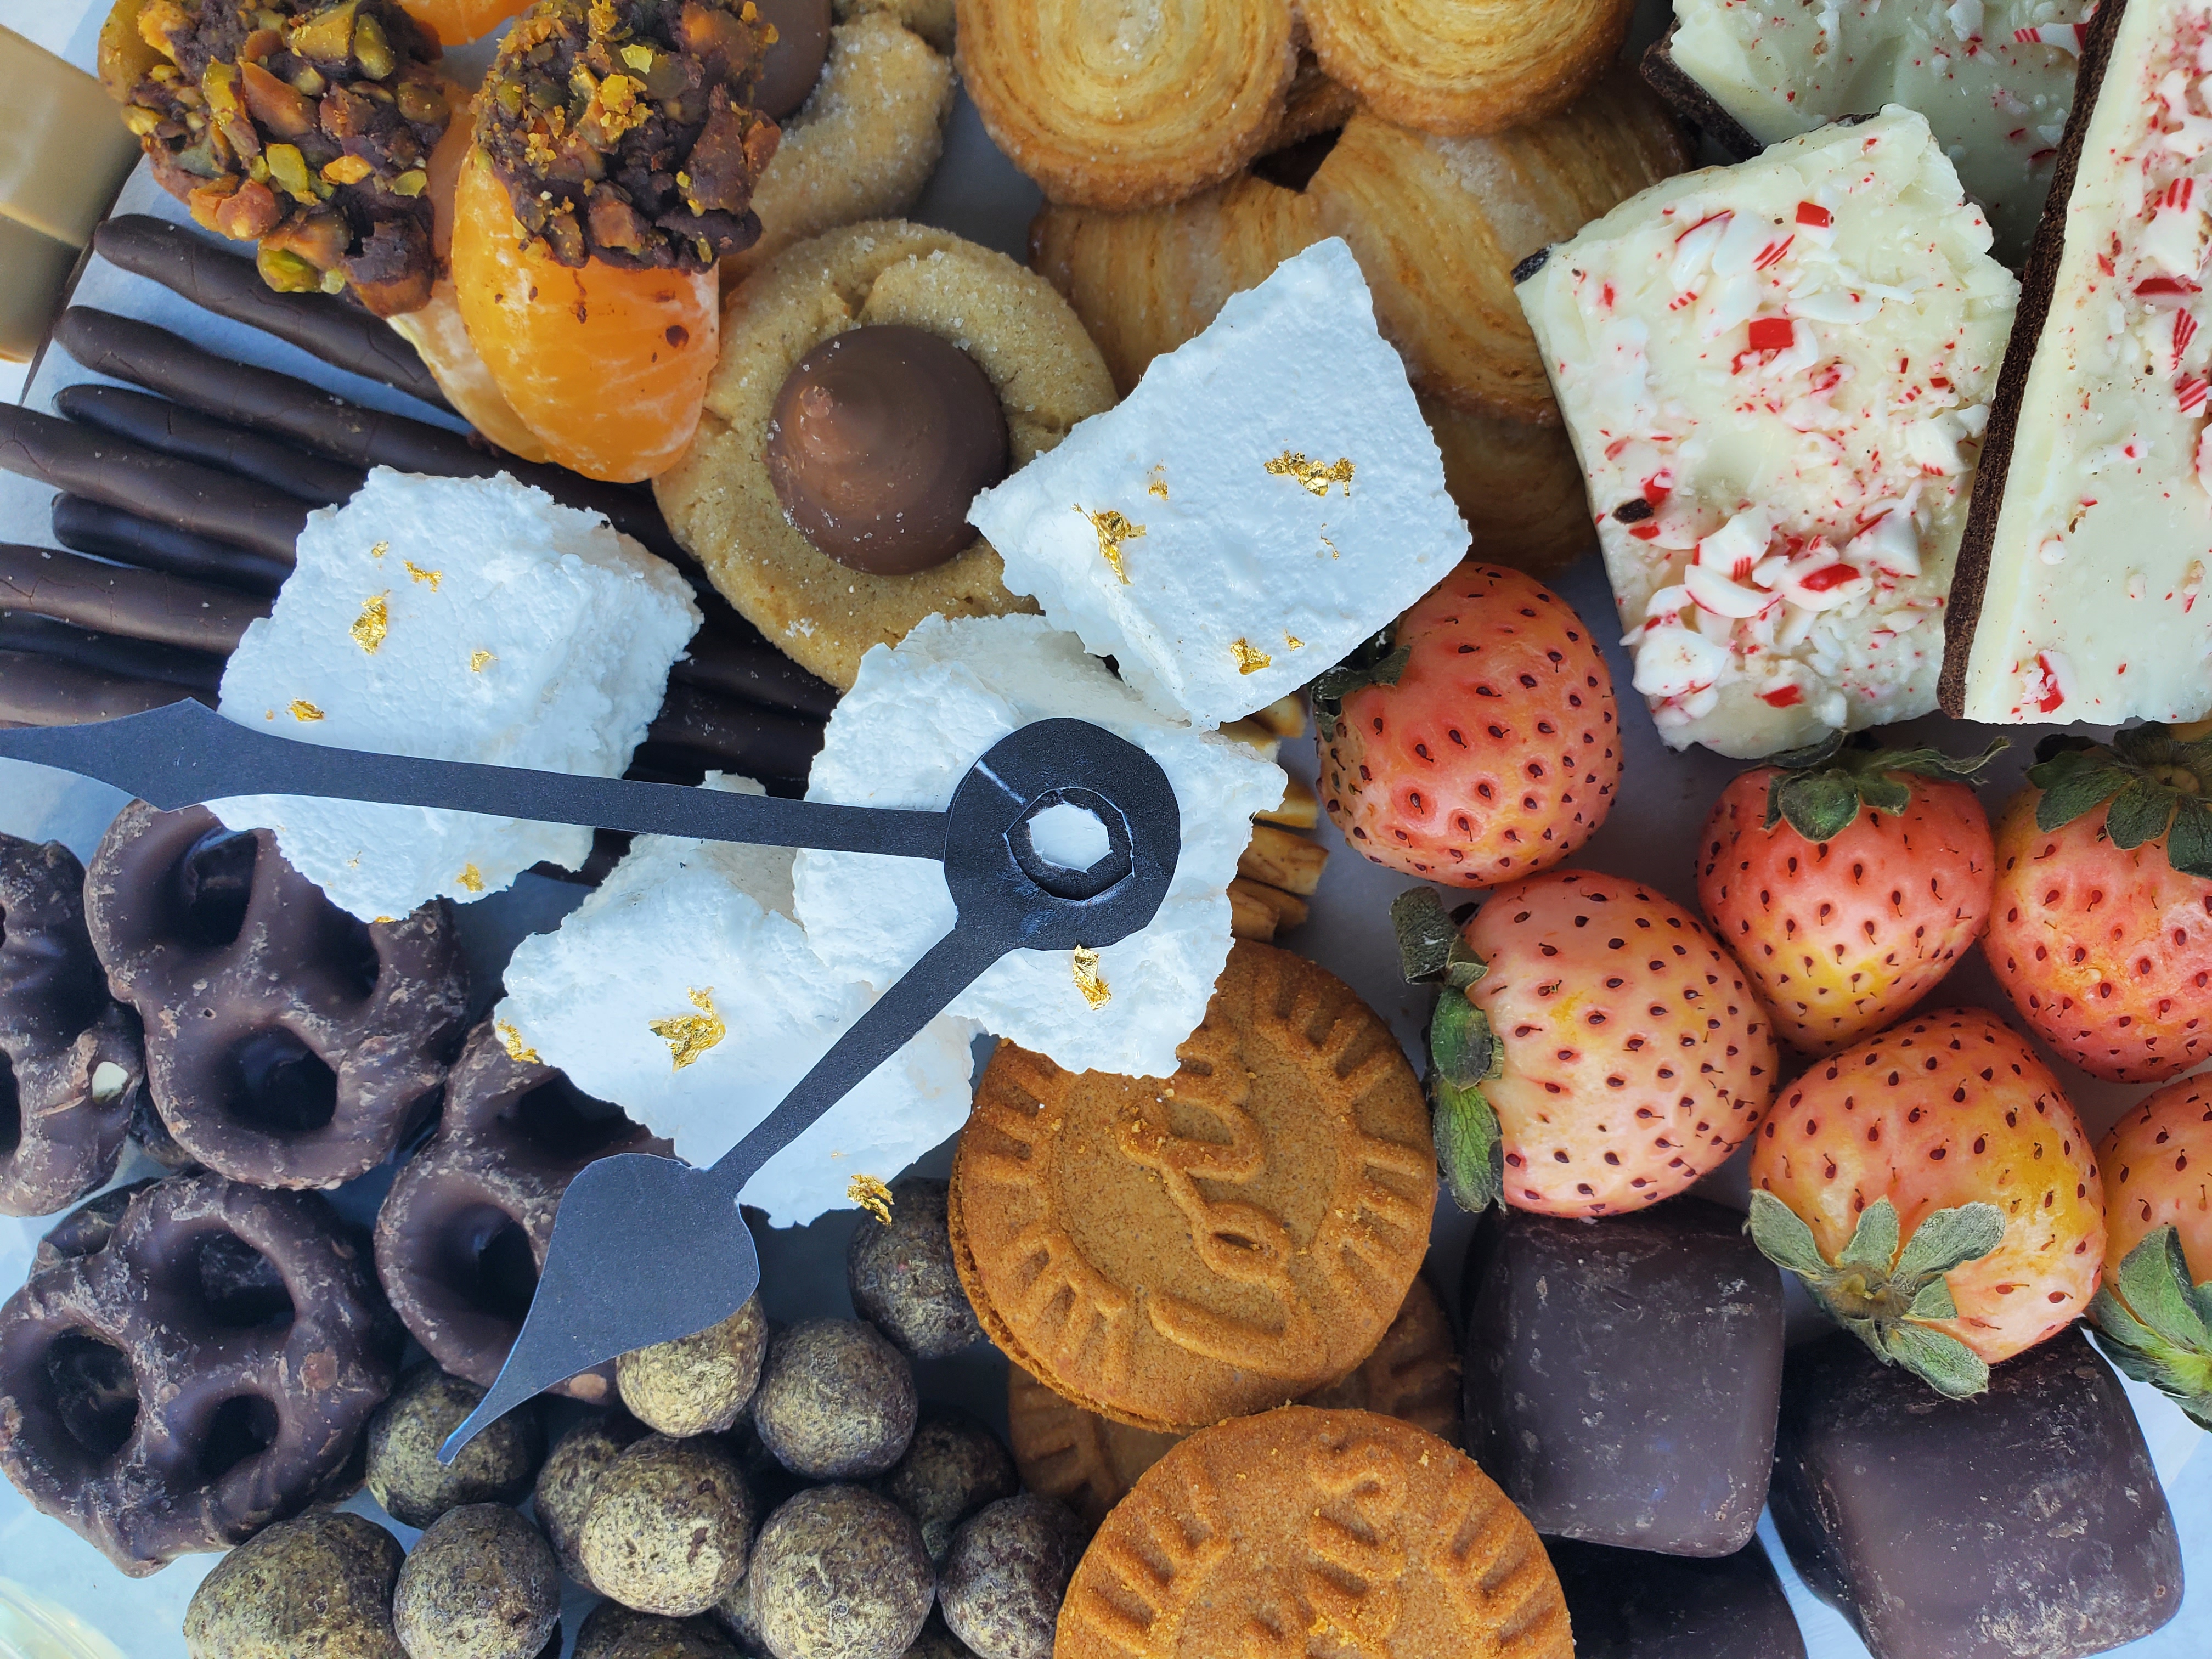
<path id="1" fill-rule="evenodd" d="M 1734 1555 L 1617 1551 L 1546 1537 L 1575 1659 L 1805 1659 L 1783 1582 L 1756 1537 Z"/>

